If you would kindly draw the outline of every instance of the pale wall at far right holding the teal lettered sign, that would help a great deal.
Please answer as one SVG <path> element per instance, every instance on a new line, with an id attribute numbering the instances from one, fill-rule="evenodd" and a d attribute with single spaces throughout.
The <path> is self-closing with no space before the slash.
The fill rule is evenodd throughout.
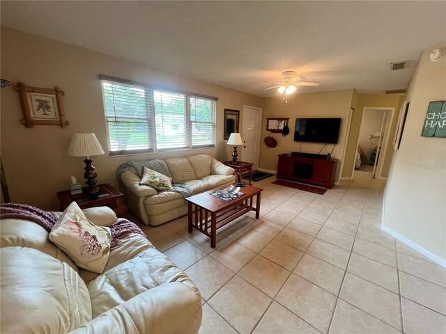
<path id="1" fill-rule="evenodd" d="M 429 102 L 446 100 L 446 57 L 425 49 L 408 86 L 410 101 L 384 194 L 383 226 L 446 260 L 446 138 L 422 137 Z"/>

